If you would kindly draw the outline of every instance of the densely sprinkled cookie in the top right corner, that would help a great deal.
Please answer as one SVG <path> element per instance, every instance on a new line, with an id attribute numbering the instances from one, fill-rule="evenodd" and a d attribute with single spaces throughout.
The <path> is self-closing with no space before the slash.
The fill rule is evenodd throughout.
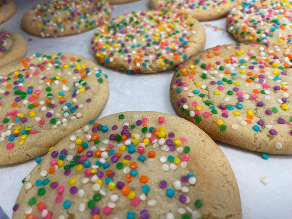
<path id="1" fill-rule="evenodd" d="M 226 19 L 228 31 L 239 42 L 288 45 L 292 39 L 291 6 L 288 1 L 256 1 L 233 8 Z"/>

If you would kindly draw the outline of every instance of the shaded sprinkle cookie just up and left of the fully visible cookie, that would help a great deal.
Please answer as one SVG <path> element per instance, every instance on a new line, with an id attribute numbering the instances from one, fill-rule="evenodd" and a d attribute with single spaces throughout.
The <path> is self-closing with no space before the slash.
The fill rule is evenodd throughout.
<path id="1" fill-rule="evenodd" d="M 22 27 L 41 37 L 68 36 L 102 25 L 110 14 L 108 0 L 53 0 L 27 11 Z"/>

